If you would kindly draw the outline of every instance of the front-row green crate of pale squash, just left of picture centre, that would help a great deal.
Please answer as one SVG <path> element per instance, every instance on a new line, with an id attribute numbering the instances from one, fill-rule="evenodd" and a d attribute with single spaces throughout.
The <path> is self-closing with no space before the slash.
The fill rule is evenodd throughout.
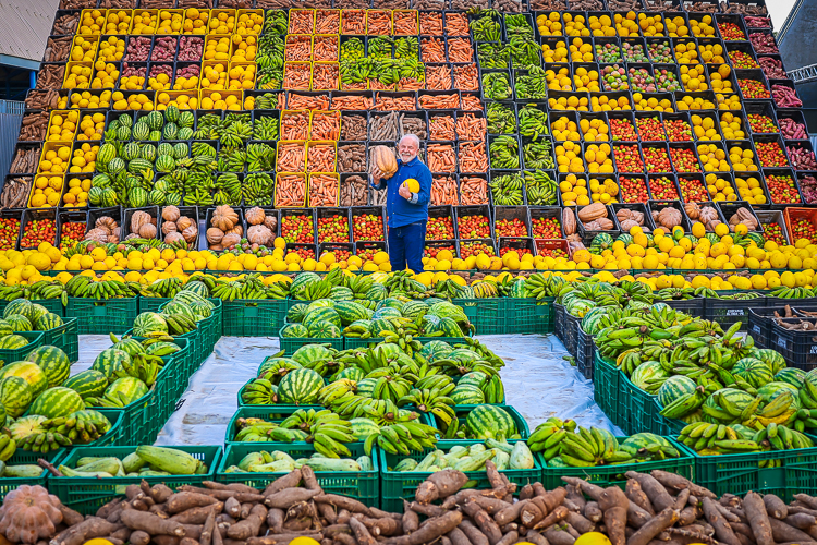
<path id="1" fill-rule="evenodd" d="M 352 458 L 358 458 L 365 453 L 363 443 L 346 444 Z M 242 458 L 249 452 L 260 450 L 280 450 L 289 453 L 292 458 L 308 458 L 315 453 L 315 448 L 306 443 L 245 443 L 230 445 L 227 447 L 221 463 L 216 471 L 216 481 L 219 483 L 242 483 L 254 488 L 264 489 L 276 479 L 285 475 L 286 471 L 276 473 L 227 473 L 230 465 L 237 465 Z M 364 502 L 368 507 L 380 505 L 380 465 L 377 453 L 371 452 L 370 471 L 316 471 L 315 476 L 318 484 L 326 494 L 340 494 Z"/>

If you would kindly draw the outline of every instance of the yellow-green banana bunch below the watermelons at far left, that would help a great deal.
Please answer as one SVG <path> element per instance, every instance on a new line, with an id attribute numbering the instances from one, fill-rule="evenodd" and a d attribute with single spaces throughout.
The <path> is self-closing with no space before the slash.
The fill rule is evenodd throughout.
<path id="1" fill-rule="evenodd" d="M 107 434 L 111 423 L 94 410 L 76 411 L 68 416 L 42 421 L 36 433 L 17 441 L 17 448 L 33 452 L 50 452 L 75 444 L 88 444 Z"/>

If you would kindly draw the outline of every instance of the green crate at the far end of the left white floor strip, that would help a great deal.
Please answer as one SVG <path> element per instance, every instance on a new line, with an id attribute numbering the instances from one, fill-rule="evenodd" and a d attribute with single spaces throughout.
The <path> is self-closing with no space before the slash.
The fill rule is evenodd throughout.
<path id="1" fill-rule="evenodd" d="M 222 311 L 225 337 L 278 337 L 286 317 L 285 299 L 236 299 Z"/>

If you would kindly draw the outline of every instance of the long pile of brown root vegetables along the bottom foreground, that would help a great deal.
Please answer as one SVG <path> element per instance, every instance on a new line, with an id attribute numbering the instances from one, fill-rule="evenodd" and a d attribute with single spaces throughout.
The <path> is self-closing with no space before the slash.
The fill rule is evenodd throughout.
<path id="1" fill-rule="evenodd" d="M 488 489 L 465 488 L 456 470 L 430 475 L 417 486 L 403 513 L 386 512 L 326 494 L 303 467 L 264 491 L 244 484 L 205 482 L 204 487 L 130 485 L 124 498 L 82 518 L 47 496 L 41 487 L 10 493 L 0 508 L 0 531 L 17 543 L 83 545 L 105 538 L 114 545 L 572 545 L 598 532 L 612 545 L 810 544 L 815 542 L 817 498 L 795 495 L 786 505 L 772 495 L 749 492 L 743 499 L 710 491 L 664 471 L 627 472 L 626 486 L 599 487 L 577 477 L 547 491 L 540 483 L 517 488 L 487 464 Z M 34 506 L 29 501 L 39 497 Z M 42 498 L 48 498 L 42 500 Z M 46 505 L 48 504 L 48 505 Z M 19 532 L 35 510 L 49 524 Z M 33 514 L 32 514 L 33 517 Z M 47 531 L 53 535 L 45 534 Z M 602 536 L 582 540 L 607 543 Z"/>

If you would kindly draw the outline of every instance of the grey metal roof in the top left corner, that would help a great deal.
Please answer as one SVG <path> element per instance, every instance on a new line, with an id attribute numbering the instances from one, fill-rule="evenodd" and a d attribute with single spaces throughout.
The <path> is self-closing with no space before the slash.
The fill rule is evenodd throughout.
<path id="1" fill-rule="evenodd" d="M 0 0 L 0 56 L 41 61 L 58 3 L 59 0 Z"/>

